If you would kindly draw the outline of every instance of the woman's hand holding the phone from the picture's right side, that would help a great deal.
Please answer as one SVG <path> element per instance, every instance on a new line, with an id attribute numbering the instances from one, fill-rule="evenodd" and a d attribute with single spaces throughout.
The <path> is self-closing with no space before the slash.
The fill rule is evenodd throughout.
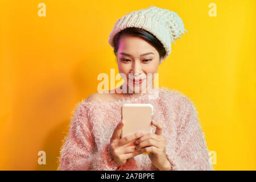
<path id="1" fill-rule="evenodd" d="M 162 125 L 155 120 L 151 121 L 152 125 L 156 127 L 155 134 L 148 133 L 136 140 L 136 149 L 142 152 L 150 152 L 148 154 L 151 162 L 160 171 L 169 170 L 170 162 L 166 158 L 166 139 L 162 136 Z"/>

